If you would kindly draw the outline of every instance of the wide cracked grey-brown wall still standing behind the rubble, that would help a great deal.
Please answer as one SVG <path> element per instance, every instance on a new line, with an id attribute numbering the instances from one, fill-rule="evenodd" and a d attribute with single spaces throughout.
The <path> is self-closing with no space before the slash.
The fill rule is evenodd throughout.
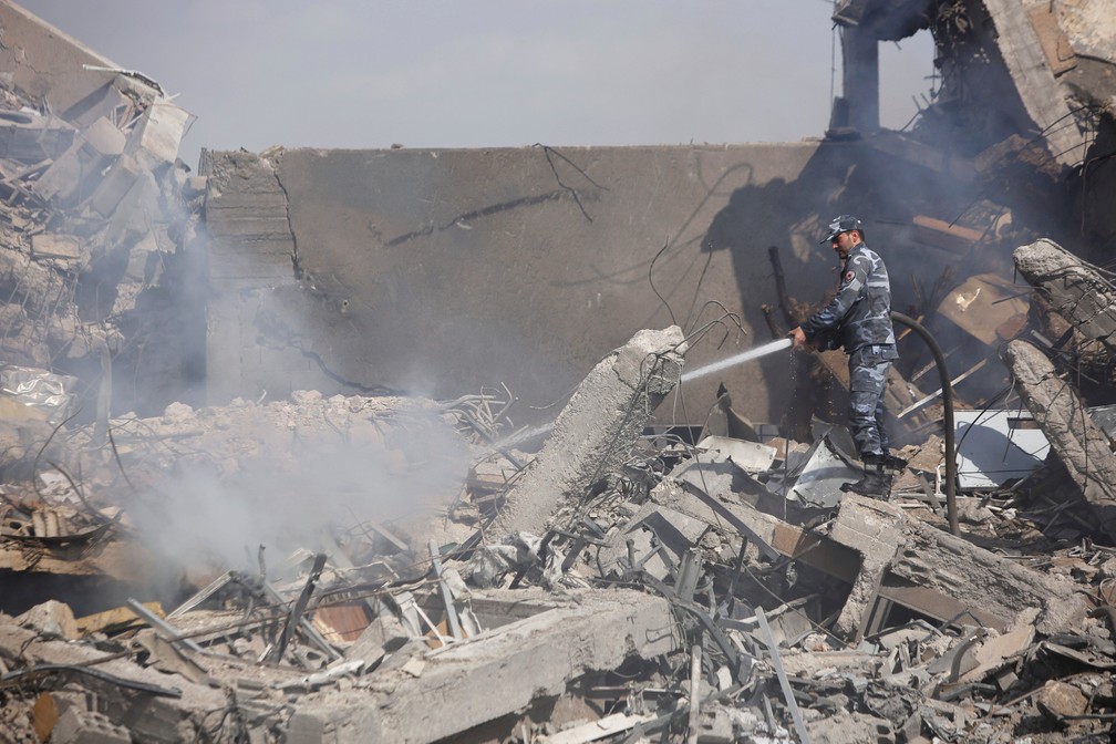
<path id="1" fill-rule="evenodd" d="M 911 219 L 952 216 L 978 185 L 888 149 L 205 153 L 210 400 L 302 387 L 456 397 L 504 383 L 546 406 L 636 330 L 673 323 L 704 336 L 690 345 L 694 369 L 770 338 L 770 245 L 795 296 L 835 287 L 836 257 L 818 236 L 839 212 L 866 220 L 903 309 L 912 272 L 933 278 L 958 261 L 908 250 Z M 974 269 L 995 260 L 982 249 Z M 741 413 L 779 421 L 788 368 L 780 355 L 722 379 Z M 684 385 L 663 417 L 700 424 L 715 387 Z"/>

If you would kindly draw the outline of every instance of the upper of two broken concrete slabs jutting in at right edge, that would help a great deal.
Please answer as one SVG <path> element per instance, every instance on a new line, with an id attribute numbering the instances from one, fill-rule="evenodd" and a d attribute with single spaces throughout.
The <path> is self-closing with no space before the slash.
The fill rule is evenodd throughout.
<path id="1" fill-rule="evenodd" d="M 1116 351 L 1116 287 L 1052 240 L 1020 245 L 1019 273 L 1084 336 Z"/>

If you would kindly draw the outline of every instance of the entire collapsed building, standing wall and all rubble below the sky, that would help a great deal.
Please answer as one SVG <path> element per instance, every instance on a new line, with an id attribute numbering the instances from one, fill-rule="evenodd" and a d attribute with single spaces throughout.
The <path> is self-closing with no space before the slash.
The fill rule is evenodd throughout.
<path id="1" fill-rule="evenodd" d="M 838 2 L 816 141 L 195 170 L 0 3 L 0 736 L 1108 741 L 1104 4 Z M 839 352 L 686 374 L 833 289 L 843 211 L 941 351 L 899 338 L 886 501 Z"/>

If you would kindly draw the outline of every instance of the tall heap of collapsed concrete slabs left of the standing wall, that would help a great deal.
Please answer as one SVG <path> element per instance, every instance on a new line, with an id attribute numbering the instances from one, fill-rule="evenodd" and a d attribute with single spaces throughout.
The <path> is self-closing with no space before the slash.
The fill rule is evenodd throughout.
<path id="1" fill-rule="evenodd" d="M 98 396 L 107 409 L 114 368 L 125 407 L 195 374 L 183 329 L 204 320 L 176 293 L 199 270 L 185 257 L 200 252 L 180 249 L 198 238 L 205 187 L 177 160 L 189 123 L 138 73 L 117 71 L 65 115 L 0 81 L 4 364 L 102 377 L 70 380 L 87 415 Z"/>

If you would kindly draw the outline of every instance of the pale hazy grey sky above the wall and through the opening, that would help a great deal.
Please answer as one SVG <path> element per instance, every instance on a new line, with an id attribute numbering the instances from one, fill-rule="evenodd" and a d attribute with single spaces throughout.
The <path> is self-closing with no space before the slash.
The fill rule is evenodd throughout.
<path id="1" fill-rule="evenodd" d="M 176 94 L 191 166 L 202 147 L 791 142 L 840 94 L 829 0 L 18 4 Z M 881 47 L 885 126 L 932 57 L 926 32 Z"/>

